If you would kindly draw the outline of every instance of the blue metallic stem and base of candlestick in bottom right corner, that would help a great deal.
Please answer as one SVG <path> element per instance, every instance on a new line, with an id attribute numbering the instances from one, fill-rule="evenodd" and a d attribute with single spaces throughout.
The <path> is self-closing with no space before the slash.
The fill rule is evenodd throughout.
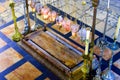
<path id="1" fill-rule="evenodd" d="M 109 67 L 108 67 L 108 70 L 105 71 L 104 74 L 102 74 L 102 79 L 103 80 L 115 80 L 115 75 L 112 73 L 111 71 L 111 67 L 112 67 L 112 62 L 113 62 L 113 51 L 112 51 L 112 56 L 111 56 L 111 59 L 109 61 Z"/>

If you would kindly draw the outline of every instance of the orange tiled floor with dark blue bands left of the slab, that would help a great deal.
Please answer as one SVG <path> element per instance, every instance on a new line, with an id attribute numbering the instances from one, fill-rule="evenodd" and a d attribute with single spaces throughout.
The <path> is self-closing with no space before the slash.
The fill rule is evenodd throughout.
<path id="1" fill-rule="evenodd" d="M 23 26 L 22 23 L 23 20 L 19 20 L 18 26 L 19 24 Z M 22 31 L 23 27 L 19 28 Z M 13 42 L 11 40 L 13 34 L 13 24 L 0 29 L 0 80 L 59 80 L 56 75 Z"/>

